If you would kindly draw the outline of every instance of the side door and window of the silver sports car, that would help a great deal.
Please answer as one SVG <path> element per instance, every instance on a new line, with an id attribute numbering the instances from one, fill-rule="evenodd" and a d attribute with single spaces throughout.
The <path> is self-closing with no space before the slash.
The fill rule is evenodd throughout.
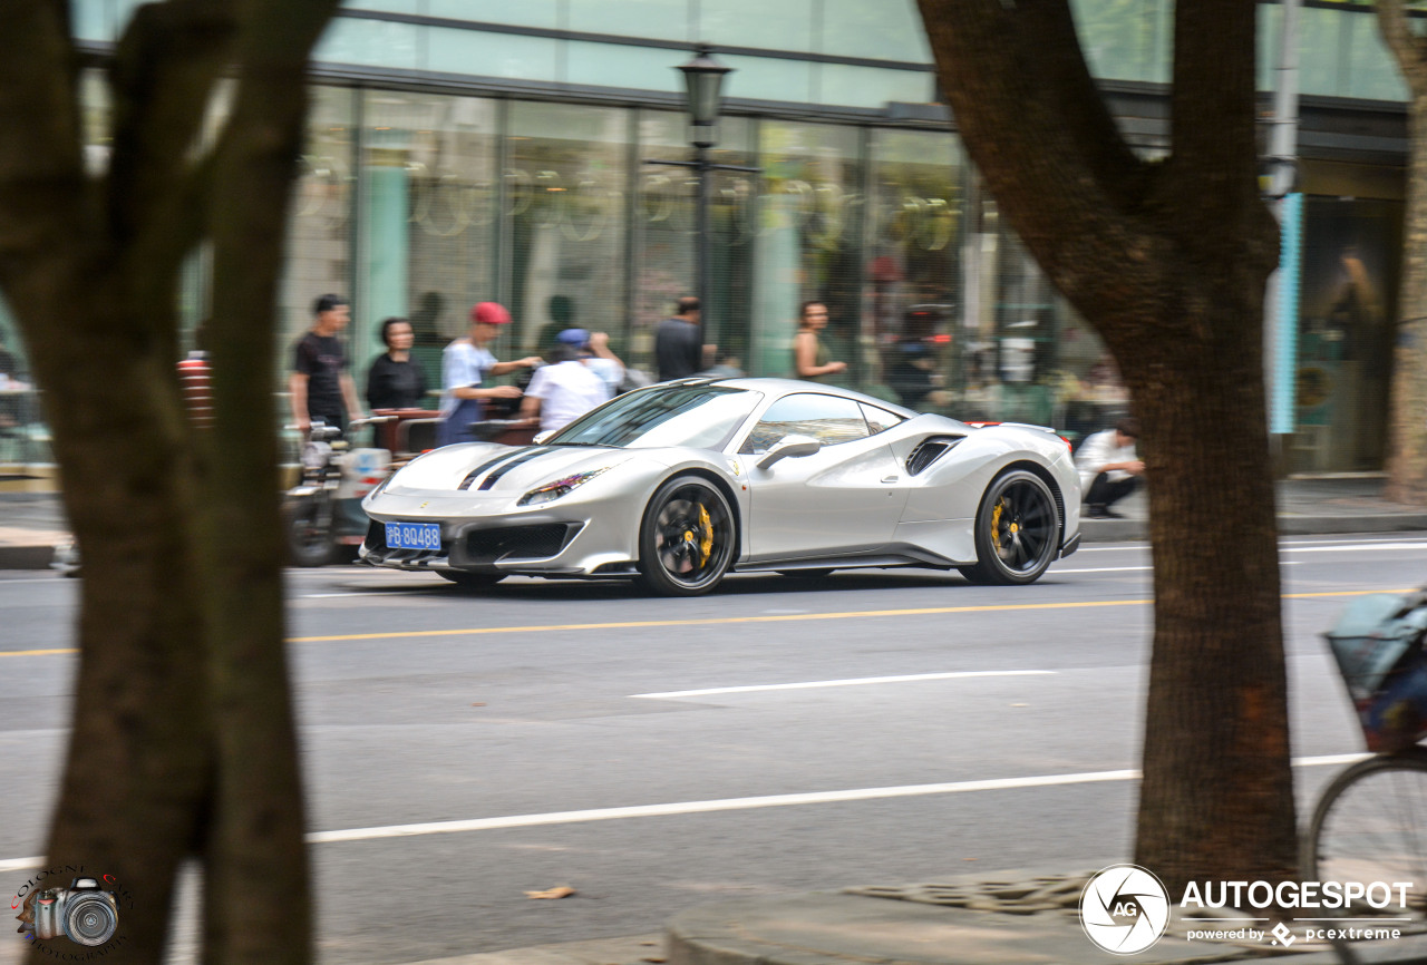
<path id="1" fill-rule="evenodd" d="M 791 435 L 822 448 L 759 469 L 768 449 Z M 902 472 L 855 401 L 818 392 L 783 396 L 739 453 L 748 466 L 751 562 L 859 553 L 892 539 L 906 503 Z"/>

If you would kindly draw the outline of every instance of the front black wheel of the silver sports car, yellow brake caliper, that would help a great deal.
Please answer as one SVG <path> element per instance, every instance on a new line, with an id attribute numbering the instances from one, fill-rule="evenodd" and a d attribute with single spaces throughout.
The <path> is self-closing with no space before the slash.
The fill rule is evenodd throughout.
<path id="1" fill-rule="evenodd" d="M 718 486 L 675 476 L 649 500 L 639 526 L 639 584 L 659 596 L 699 596 L 733 564 L 738 526 Z"/>

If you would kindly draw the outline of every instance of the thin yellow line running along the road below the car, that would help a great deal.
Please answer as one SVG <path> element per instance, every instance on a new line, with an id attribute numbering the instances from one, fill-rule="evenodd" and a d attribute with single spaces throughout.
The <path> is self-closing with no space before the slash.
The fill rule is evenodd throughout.
<path id="1" fill-rule="evenodd" d="M 1371 593 L 1411 593 L 1413 590 L 1331 590 L 1326 593 L 1284 593 L 1284 600 L 1309 600 L 1334 596 L 1368 596 Z M 695 617 L 691 620 L 629 620 L 622 623 L 545 623 L 524 627 L 467 627 L 462 630 L 397 630 L 384 633 L 345 633 L 327 637 L 291 637 L 288 643 L 344 643 L 351 640 L 405 640 L 411 637 L 471 637 L 492 633 L 555 633 L 561 630 L 638 630 L 648 627 L 696 627 L 719 626 L 732 623 L 788 623 L 799 620 L 856 620 L 870 617 L 910 617 L 935 616 L 940 613 L 1003 613 L 1006 610 L 1083 610 L 1092 607 L 1110 606 L 1146 606 L 1153 599 L 1144 600 L 1075 600 L 1066 603 L 1005 603 L 996 606 L 938 606 L 913 610 L 843 610 L 839 613 L 779 613 L 775 616 L 748 617 Z M 0 651 L 0 657 L 43 657 L 60 653 L 78 653 L 76 649 L 67 650 L 10 650 Z"/>

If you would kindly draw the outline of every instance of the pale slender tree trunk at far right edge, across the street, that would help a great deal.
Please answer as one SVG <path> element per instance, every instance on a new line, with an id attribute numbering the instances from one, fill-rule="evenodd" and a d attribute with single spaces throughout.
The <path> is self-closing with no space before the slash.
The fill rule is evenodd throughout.
<path id="1" fill-rule="evenodd" d="M 1407 211 L 1388 406 L 1387 487 L 1427 505 L 1427 38 L 1407 24 L 1403 0 L 1378 0 L 1377 26 L 1407 81 Z"/>

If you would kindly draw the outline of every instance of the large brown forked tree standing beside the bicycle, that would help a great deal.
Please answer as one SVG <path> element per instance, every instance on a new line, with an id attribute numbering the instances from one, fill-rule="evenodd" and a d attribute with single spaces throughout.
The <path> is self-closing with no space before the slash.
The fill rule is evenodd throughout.
<path id="1" fill-rule="evenodd" d="M 1180 0 L 1173 151 L 1137 160 L 1066 0 L 920 0 L 946 100 L 1010 225 L 1116 358 L 1154 554 L 1136 861 L 1190 879 L 1296 869 L 1263 292 L 1254 4 Z"/>

